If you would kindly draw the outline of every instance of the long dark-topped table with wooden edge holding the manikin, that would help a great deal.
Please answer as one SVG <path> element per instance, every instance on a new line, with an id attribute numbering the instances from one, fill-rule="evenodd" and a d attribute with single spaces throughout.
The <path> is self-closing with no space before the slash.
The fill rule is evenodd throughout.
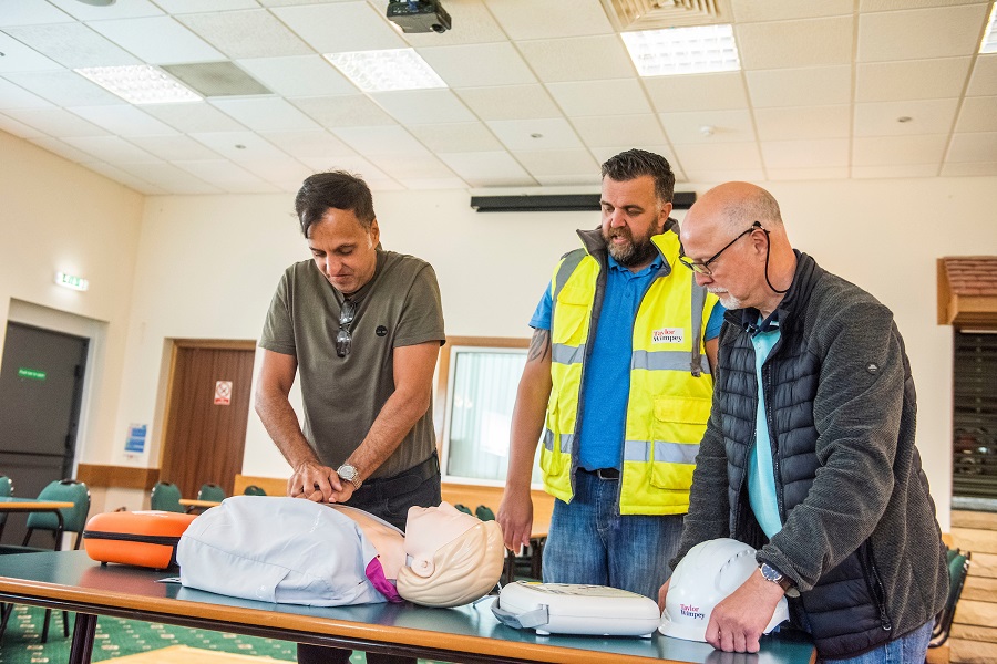
<path id="1" fill-rule="evenodd" d="M 651 639 L 537 636 L 498 623 L 490 609 L 491 599 L 456 609 L 408 603 L 298 606 L 156 582 L 168 575 L 126 566 L 101 566 L 83 551 L 4 556 L 0 557 L 0 601 L 78 612 L 71 664 L 90 662 L 96 615 L 467 663 L 719 664 L 746 657 L 657 633 Z M 813 663 L 815 653 L 809 641 L 787 633 L 765 637 L 758 658 L 751 661 Z"/>

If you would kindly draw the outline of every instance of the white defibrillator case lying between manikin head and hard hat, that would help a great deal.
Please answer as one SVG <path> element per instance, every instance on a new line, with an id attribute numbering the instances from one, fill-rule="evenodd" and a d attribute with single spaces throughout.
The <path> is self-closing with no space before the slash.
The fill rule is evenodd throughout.
<path id="1" fill-rule="evenodd" d="M 539 635 L 644 636 L 661 622 L 654 600 L 637 593 L 580 583 L 516 581 L 492 604 L 503 624 L 534 629 Z"/>

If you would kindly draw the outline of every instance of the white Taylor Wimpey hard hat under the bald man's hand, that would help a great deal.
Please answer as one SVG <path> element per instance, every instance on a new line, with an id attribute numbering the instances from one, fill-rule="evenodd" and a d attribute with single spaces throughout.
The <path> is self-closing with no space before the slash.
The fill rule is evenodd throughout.
<path id="1" fill-rule="evenodd" d="M 758 569 L 756 550 L 738 540 L 720 538 L 689 549 L 675 568 L 658 631 L 686 641 L 706 641 L 713 606 L 741 587 Z M 785 598 L 779 600 L 765 634 L 789 620 Z"/>

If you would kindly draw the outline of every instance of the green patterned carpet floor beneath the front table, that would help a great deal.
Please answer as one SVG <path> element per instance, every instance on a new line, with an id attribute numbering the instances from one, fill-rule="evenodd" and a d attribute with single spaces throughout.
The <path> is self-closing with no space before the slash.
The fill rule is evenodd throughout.
<path id="1" fill-rule="evenodd" d="M 0 642 L 0 664 L 55 664 L 69 658 L 70 639 L 62 635 L 62 613 L 53 612 L 49 642 L 41 643 L 44 610 L 17 605 Z M 73 614 L 70 613 L 70 633 Z M 163 650 L 166 649 L 166 650 Z M 195 650 L 196 649 L 196 650 Z M 295 644 L 275 639 L 240 636 L 209 630 L 101 616 L 97 620 L 93 662 L 129 657 L 122 664 L 183 663 L 232 664 L 237 658 L 214 656 L 228 653 L 247 657 L 295 661 Z M 140 655 L 147 656 L 140 656 Z M 259 661 L 259 660 L 257 660 Z M 352 664 L 366 662 L 354 653 Z M 264 664 L 266 660 L 261 661 Z M 420 660 L 424 664 L 439 664 Z"/>

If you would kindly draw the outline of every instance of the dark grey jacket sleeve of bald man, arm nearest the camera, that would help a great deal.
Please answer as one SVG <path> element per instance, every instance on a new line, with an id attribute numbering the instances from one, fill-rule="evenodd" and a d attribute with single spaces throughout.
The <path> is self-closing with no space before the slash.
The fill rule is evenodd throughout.
<path id="1" fill-rule="evenodd" d="M 836 304 L 812 352 L 823 360 L 814 400 L 820 470 L 759 558 L 810 590 L 872 533 L 893 492 L 904 398 L 904 352 L 878 302 Z"/>

